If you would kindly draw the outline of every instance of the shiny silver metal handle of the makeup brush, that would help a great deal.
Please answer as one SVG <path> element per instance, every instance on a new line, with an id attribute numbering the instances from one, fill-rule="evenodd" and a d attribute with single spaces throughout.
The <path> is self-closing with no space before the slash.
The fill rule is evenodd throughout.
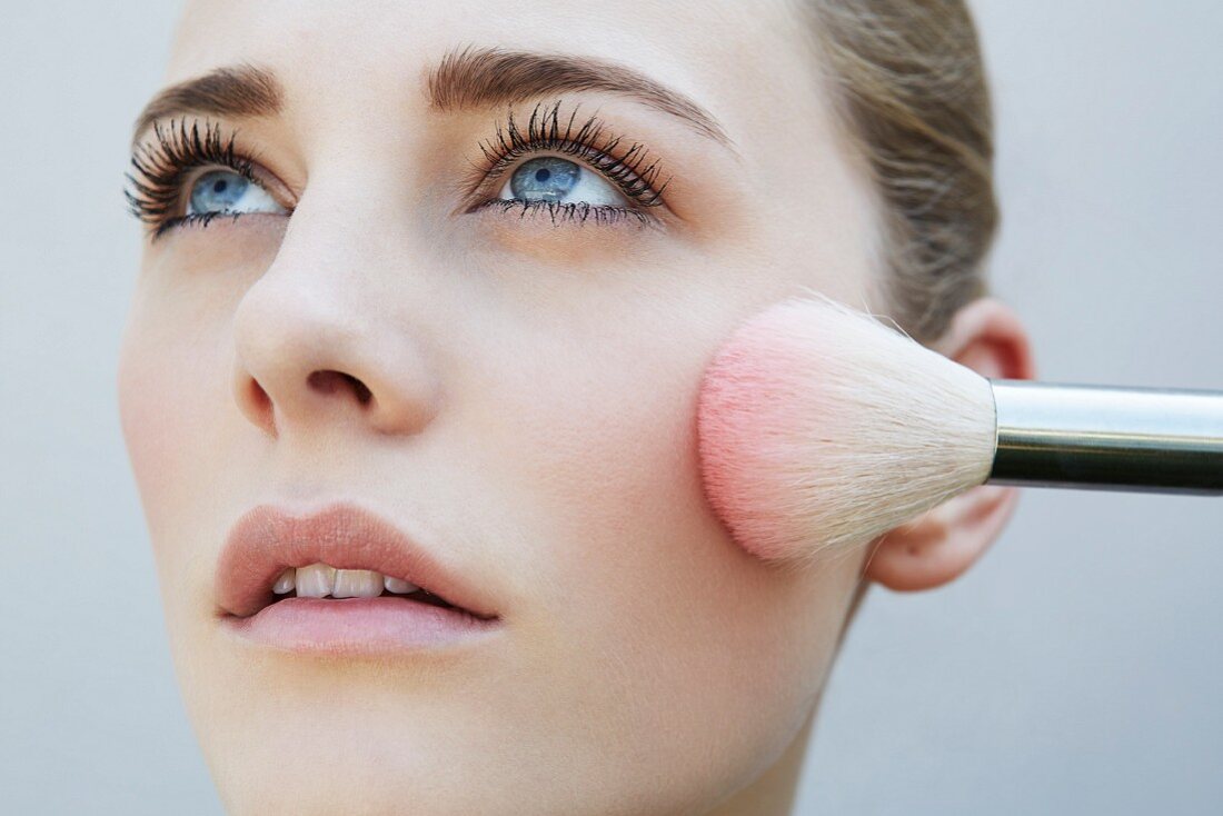
<path id="1" fill-rule="evenodd" d="M 1223 495 L 1223 393 L 989 384 L 991 483 Z"/>

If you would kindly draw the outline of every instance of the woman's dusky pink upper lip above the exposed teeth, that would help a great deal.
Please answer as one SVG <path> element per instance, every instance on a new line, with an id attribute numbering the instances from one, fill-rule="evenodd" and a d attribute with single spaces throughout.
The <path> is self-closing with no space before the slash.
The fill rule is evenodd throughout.
<path id="1" fill-rule="evenodd" d="M 273 603 L 272 585 L 287 566 L 323 562 L 404 579 L 478 618 L 497 613 L 457 571 L 390 521 L 347 503 L 295 514 L 272 504 L 245 513 L 230 530 L 214 587 L 223 614 L 246 618 Z"/>

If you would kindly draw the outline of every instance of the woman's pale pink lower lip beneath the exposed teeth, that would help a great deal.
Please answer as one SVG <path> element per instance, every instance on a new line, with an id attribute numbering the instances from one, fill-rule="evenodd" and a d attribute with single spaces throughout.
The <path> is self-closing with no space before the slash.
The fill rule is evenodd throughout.
<path id="1" fill-rule="evenodd" d="M 460 609 L 391 598 L 285 598 L 249 618 L 227 615 L 238 636 L 287 652 L 379 655 L 455 647 L 500 628 Z"/>

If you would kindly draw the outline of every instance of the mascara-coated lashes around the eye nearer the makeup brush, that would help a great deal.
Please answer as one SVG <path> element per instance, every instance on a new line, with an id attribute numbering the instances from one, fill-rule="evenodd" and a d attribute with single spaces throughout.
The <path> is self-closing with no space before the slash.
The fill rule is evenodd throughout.
<path id="1" fill-rule="evenodd" d="M 528 201 L 521 198 L 494 198 L 476 204 L 468 212 L 482 207 L 499 206 L 504 212 L 515 207 L 522 209 L 520 218 L 527 212 L 541 208 L 548 209 L 555 224 L 558 217 L 563 220 L 580 220 L 585 223 L 587 218 L 593 218 L 597 223 L 616 221 L 623 218 L 635 217 L 643 225 L 656 220 L 641 208 L 658 207 L 664 203 L 663 188 L 667 187 L 668 179 L 657 188 L 654 180 L 659 174 L 659 161 L 648 161 L 648 149 L 640 142 L 634 144 L 620 158 L 615 158 L 616 147 L 623 141 L 618 136 L 607 136 L 605 127 L 597 116 L 591 116 L 583 125 L 575 130 L 574 120 L 577 109 L 569 116 L 569 121 L 561 124 L 560 100 L 550 108 L 544 103 L 536 105 L 531 111 L 527 130 L 523 133 L 517 122 L 514 121 L 514 113 L 506 116 L 505 127 L 497 127 L 497 136 L 487 142 L 481 142 L 479 149 L 484 155 L 486 166 L 476 168 L 472 179 L 468 180 L 468 188 L 476 187 L 482 180 L 495 181 L 505 174 L 520 157 L 550 150 L 564 153 L 581 159 L 593 166 L 603 176 L 613 181 L 626 198 L 635 202 L 637 207 L 613 207 L 607 204 L 591 204 L 587 202 L 555 202 L 555 201 Z M 645 165 L 645 166 L 643 166 Z"/>

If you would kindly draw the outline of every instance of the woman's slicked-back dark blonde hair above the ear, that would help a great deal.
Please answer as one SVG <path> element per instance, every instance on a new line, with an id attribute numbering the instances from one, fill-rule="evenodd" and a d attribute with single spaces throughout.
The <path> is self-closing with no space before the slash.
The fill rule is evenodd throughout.
<path id="1" fill-rule="evenodd" d="M 887 311 L 938 338 L 986 294 L 993 115 L 963 0 L 795 0 L 882 203 Z"/>

